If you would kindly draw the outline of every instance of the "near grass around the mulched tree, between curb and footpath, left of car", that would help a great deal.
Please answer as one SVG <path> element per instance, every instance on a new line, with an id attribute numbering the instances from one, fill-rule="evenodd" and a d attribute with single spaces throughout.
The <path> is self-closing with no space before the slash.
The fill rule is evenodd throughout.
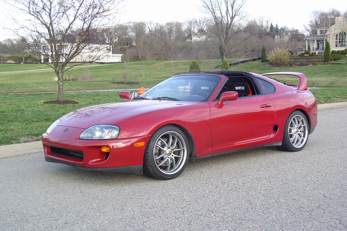
<path id="1" fill-rule="evenodd" d="M 1 94 L 0 145 L 40 140 L 56 119 L 78 108 L 121 101 L 118 92 L 66 93 L 79 104 L 43 104 L 56 100 L 57 94 Z"/>

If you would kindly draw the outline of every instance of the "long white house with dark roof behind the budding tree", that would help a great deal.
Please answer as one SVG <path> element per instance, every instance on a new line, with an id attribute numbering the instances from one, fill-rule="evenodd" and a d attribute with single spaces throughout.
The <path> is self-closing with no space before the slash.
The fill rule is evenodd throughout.
<path id="1" fill-rule="evenodd" d="M 42 55 L 41 59 L 43 60 L 44 54 L 50 54 L 49 51 L 49 39 L 45 39 L 47 45 L 42 46 Z M 63 44 L 63 54 L 69 54 L 70 50 L 74 49 L 75 43 L 70 42 L 74 41 L 73 39 L 70 39 L 67 42 L 62 43 Z M 60 42 L 60 41 L 57 41 Z M 82 50 L 81 53 L 73 57 L 71 62 L 121 62 L 122 61 L 122 55 L 121 53 L 112 50 L 112 47 L 110 44 L 103 42 L 103 41 L 95 41 L 93 43 L 87 44 L 85 48 Z M 64 61 L 64 55 L 60 58 L 60 62 Z M 51 62 L 51 59 L 49 58 L 48 62 Z"/>

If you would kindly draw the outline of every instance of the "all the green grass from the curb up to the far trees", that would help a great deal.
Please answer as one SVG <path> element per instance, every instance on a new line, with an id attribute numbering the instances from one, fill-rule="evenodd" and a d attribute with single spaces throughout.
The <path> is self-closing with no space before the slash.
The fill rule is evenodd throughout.
<path id="1" fill-rule="evenodd" d="M 219 65 L 221 61 L 199 60 L 198 62 L 203 71 L 214 71 L 214 66 Z M 66 77 L 82 76 L 87 72 L 93 79 L 65 81 L 64 89 L 65 91 L 137 89 L 141 86 L 149 88 L 176 72 L 188 71 L 190 63 L 191 61 L 148 61 L 75 68 L 68 71 Z M 23 65 L 27 65 L 26 68 L 30 69 L 32 68 L 30 65 L 39 64 Z M 113 79 L 122 81 L 122 72 L 126 69 L 128 69 L 133 79 L 137 75 L 139 83 L 135 85 L 112 83 Z M 261 63 L 257 61 L 231 66 L 230 69 L 259 74 L 276 71 L 302 72 L 307 77 L 308 87 L 325 87 L 323 89 L 311 89 L 318 103 L 347 101 L 347 65 L 274 68 L 269 62 Z M 0 94 L 0 145 L 39 140 L 41 134 L 46 131 L 51 123 L 73 110 L 123 100 L 119 98 L 118 92 L 74 92 L 65 93 L 65 99 L 75 100 L 80 104 L 53 105 L 43 104 L 43 102 L 56 100 L 56 93 L 6 94 L 10 92 L 57 91 L 58 84 L 56 81 L 52 81 L 54 78 L 55 74 L 52 70 L 0 74 L 0 93 L 2 93 Z M 129 81 L 133 81 L 132 78 Z M 298 84 L 298 78 L 296 77 L 280 76 L 279 78 L 285 80 L 286 83 Z"/>

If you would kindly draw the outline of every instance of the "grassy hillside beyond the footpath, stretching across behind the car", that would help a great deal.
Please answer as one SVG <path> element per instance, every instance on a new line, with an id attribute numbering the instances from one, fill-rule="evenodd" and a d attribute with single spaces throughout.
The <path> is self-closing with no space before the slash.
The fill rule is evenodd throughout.
<path id="1" fill-rule="evenodd" d="M 230 63 L 236 60 L 228 60 Z M 201 70 L 214 71 L 220 60 L 198 60 Z M 70 69 L 65 73 L 66 79 L 79 79 L 79 81 L 65 81 L 64 90 L 103 90 L 103 89 L 129 89 L 149 88 L 156 83 L 172 76 L 174 73 L 189 70 L 191 61 L 144 61 L 107 65 L 84 66 Z M 48 68 L 42 64 L 2 64 L 0 72 L 15 70 L 33 70 Z M 302 72 L 307 77 L 308 87 L 347 87 L 345 81 L 347 65 L 318 65 L 274 68 L 269 62 L 248 62 L 231 66 L 232 70 L 249 71 L 254 73 L 267 73 L 275 71 Z M 129 82 L 138 84 L 118 84 L 122 82 L 123 72 L 129 75 Z M 86 78 L 84 78 L 86 76 Z M 276 77 L 275 77 L 276 78 Z M 89 80 L 85 80 L 89 79 Z M 297 78 L 283 77 L 289 83 L 297 83 Z M 57 91 L 57 76 L 53 70 L 40 70 L 17 73 L 0 73 L 0 94 L 24 92 L 52 92 Z"/>

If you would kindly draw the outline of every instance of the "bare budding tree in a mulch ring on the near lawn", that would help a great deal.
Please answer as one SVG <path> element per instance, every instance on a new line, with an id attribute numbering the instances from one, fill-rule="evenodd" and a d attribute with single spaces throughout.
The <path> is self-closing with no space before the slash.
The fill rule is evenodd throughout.
<path id="1" fill-rule="evenodd" d="M 58 76 L 58 101 L 64 101 L 64 73 L 102 55 L 103 49 L 90 44 L 96 41 L 100 44 L 103 33 L 110 28 L 111 16 L 119 11 L 120 2 L 122 0 L 6 0 L 27 17 L 24 22 L 12 17 L 18 25 L 14 34 L 26 42 L 32 53 L 51 60 L 45 64 Z M 88 60 L 67 67 L 77 55 L 87 51 L 93 52 Z"/>

